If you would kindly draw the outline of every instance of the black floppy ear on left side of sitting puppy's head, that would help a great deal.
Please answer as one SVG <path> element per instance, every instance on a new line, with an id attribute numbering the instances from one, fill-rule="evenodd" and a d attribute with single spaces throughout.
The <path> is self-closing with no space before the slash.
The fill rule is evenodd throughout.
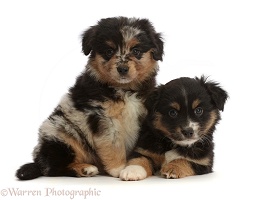
<path id="1" fill-rule="evenodd" d="M 96 33 L 96 26 L 91 26 L 82 34 L 82 51 L 87 56 L 93 49 L 93 43 Z"/>

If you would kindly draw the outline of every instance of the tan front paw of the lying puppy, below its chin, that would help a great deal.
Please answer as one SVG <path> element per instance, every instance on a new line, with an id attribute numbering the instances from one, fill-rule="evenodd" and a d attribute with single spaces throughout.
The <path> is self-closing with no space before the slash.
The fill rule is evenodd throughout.
<path id="1" fill-rule="evenodd" d="M 177 159 L 163 164 L 160 172 L 165 178 L 184 178 L 195 175 L 190 162 L 185 159 Z"/>

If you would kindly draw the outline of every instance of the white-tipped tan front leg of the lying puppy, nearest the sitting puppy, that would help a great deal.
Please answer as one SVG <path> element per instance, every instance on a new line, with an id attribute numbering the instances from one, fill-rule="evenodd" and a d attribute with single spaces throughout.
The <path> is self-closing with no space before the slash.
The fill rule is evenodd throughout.
<path id="1" fill-rule="evenodd" d="M 146 157 L 133 158 L 120 173 L 120 179 L 124 181 L 143 180 L 152 175 L 152 164 Z"/>

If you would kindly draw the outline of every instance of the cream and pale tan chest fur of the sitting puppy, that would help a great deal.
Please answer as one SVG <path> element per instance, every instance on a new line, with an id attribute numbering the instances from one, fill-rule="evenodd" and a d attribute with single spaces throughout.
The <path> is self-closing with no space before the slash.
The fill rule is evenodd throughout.
<path id="1" fill-rule="evenodd" d="M 108 132 L 113 142 L 124 142 L 126 152 L 133 149 L 138 138 L 140 118 L 145 117 L 146 109 L 136 93 L 119 91 L 121 100 L 103 103 L 107 118 Z"/>

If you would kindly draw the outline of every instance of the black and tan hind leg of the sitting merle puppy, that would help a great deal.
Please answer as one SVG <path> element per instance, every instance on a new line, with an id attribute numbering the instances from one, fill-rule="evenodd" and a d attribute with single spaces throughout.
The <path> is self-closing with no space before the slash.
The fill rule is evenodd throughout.
<path id="1" fill-rule="evenodd" d="M 74 141 L 74 139 L 66 139 L 65 142 L 45 139 L 41 141 L 35 148 L 34 160 L 42 175 L 82 177 L 98 174 L 96 166 L 86 164 L 94 163 L 92 157 Z"/>

